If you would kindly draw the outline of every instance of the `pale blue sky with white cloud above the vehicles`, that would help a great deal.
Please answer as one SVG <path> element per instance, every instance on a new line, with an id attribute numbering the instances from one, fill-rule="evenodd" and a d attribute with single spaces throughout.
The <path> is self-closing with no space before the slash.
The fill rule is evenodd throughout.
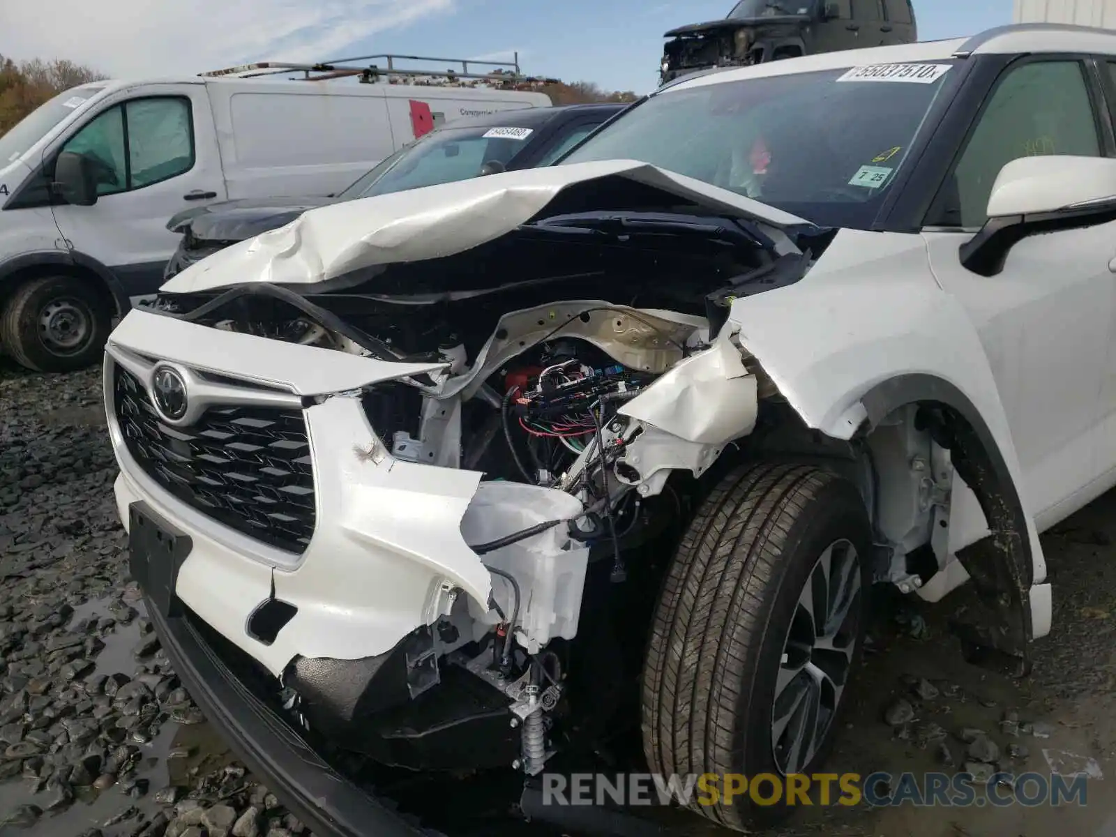
<path id="1" fill-rule="evenodd" d="M 731 0 L 0 0 L 0 54 L 113 76 L 371 52 L 503 58 L 609 89 L 655 86 L 662 35 Z M 915 0 L 923 40 L 1010 22 L 1012 0 Z"/>

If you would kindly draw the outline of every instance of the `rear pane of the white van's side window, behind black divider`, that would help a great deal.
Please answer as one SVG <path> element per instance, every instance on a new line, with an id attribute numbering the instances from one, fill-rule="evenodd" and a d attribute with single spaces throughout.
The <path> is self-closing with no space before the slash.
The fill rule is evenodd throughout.
<path id="1" fill-rule="evenodd" d="M 125 103 L 124 114 L 128 125 L 129 189 L 142 189 L 193 169 L 189 99 L 135 99 Z"/>

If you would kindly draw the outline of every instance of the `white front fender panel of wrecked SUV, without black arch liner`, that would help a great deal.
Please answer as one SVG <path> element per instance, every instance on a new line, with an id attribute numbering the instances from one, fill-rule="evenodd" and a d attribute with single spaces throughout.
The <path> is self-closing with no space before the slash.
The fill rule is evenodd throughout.
<path id="1" fill-rule="evenodd" d="M 1035 584 L 1046 578 L 1033 508 L 984 347 L 961 304 L 935 281 L 920 235 L 841 230 L 806 277 L 738 299 L 729 321 L 807 425 L 835 439 L 856 432 L 865 417 L 860 398 L 879 383 L 929 374 L 958 387 L 1000 449 L 1029 512 Z M 974 528 L 968 542 L 979 535 Z"/>

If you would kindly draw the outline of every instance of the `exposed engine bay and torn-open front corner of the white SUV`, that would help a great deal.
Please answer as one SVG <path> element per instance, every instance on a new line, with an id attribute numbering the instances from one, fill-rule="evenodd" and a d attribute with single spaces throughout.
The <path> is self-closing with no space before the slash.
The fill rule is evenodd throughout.
<path id="1" fill-rule="evenodd" d="M 290 715 L 384 764 L 541 771 L 562 719 L 608 705 L 594 681 L 622 666 L 585 661 L 627 653 L 603 626 L 614 591 L 654 598 L 634 591 L 657 584 L 644 555 L 773 392 L 724 327 L 732 300 L 797 281 L 833 235 L 777 247 L 728 218 L 561 214 L 329 287 L 161 294 L 154 311 L 195 325 L 426 364 L 314 400 L 359 398 L 383 445 L 369 456 L 483 474 L 461 529 L 489 602 L 443 590 L 430 624 L 346 663 L 349 699 L 321 661 L 292 661 L 276 686 Z M 483 753 L 463 743 L 479 739 Z"/>

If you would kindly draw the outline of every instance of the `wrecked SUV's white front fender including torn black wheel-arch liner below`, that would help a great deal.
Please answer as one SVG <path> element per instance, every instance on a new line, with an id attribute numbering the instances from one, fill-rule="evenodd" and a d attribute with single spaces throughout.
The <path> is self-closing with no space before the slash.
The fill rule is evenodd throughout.
<path id="1" fill-rule="evenodd" d="M 966 454 L 987 456 L 979 469 L 991 472 L 984 497 L 970 488 L 993 533 L 1018 538 L 998 542 L 993 559 L 959 557 L 974 577 L 987 561 L 991 571 L 977 580 L 988 589 L 1010 588 L 1029 642 L 1029 590 L 1045 580 L 1046 561 L 1022 470 L 984 347 L 934 280 L 922 238 L 843 230 L 801 281 L 735 300 L 729 320 L 802 421 L 829 436 L 848 440 L 911 403 L 944 404 L 965 420 Z M 966 483 L 979 479 L 962 468 Z"/>

